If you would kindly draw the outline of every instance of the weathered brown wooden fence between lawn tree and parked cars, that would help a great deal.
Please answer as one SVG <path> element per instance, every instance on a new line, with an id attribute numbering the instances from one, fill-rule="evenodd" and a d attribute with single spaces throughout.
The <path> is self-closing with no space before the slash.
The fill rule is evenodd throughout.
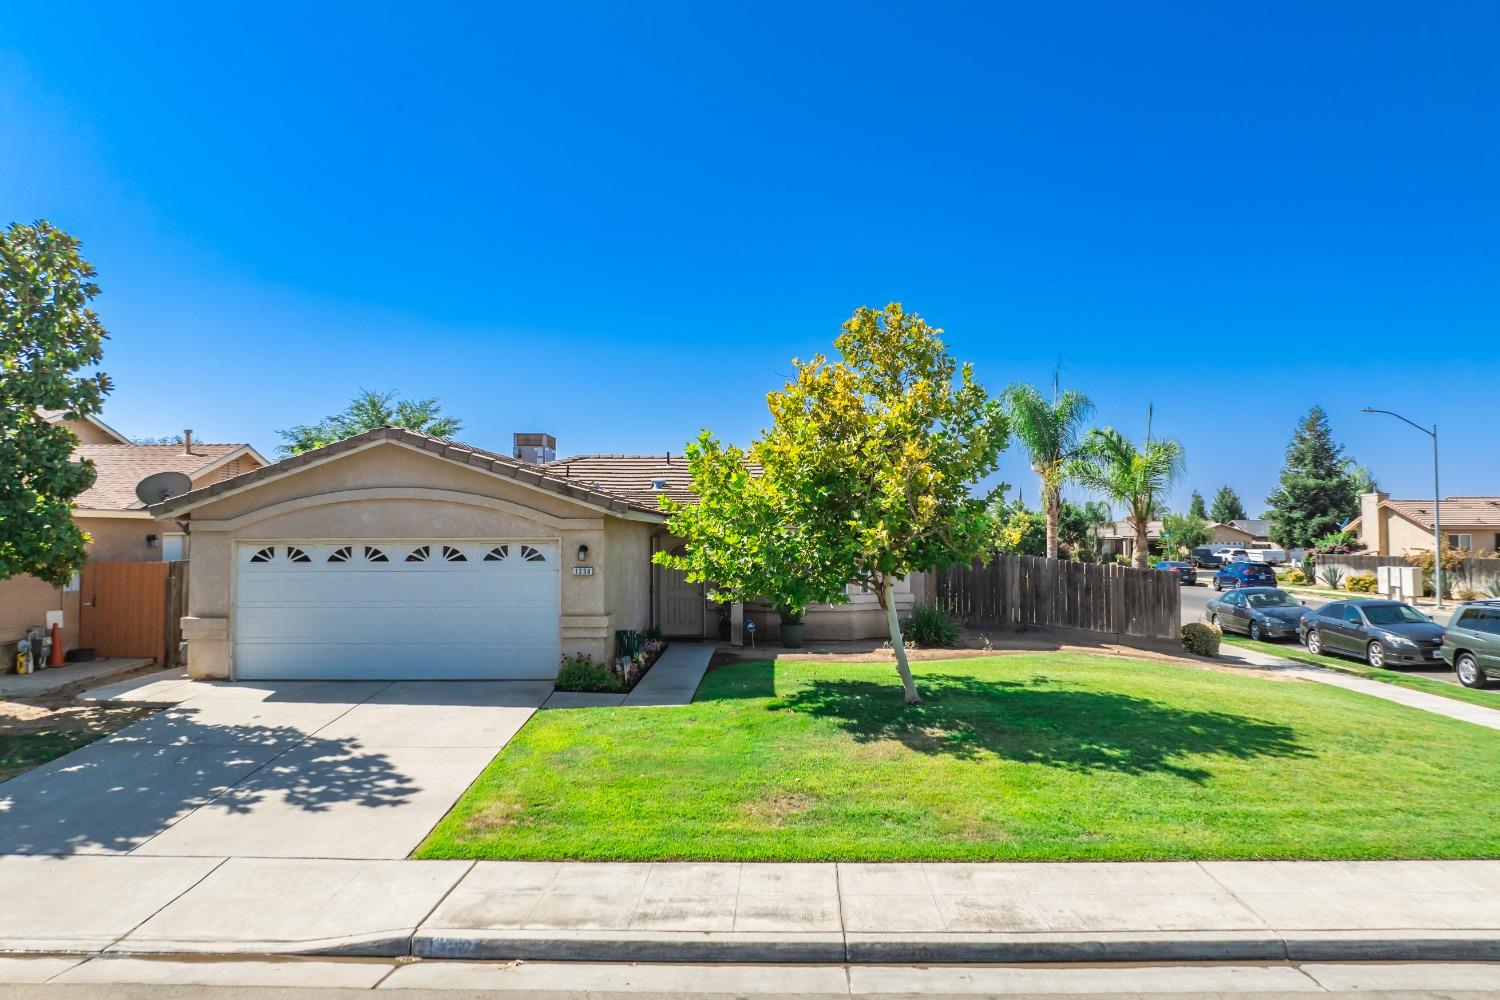
<path id="1" fill-rule="evenodd" d="M 938 606 L 974 628 L 1047 625 L 1116 636 L 1178 639 L 1178 577 L 1161 570 L 992 556 L 933 573 Z"/>

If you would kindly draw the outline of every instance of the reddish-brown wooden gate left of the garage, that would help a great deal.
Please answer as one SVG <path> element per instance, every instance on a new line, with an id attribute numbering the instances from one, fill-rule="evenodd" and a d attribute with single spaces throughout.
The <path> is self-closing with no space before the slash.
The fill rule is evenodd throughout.
<path id="1" fill-rule="evenodd" d="M 87 562 L 78 643 L 96 657 L 166 658 L 168 562 Z"/>

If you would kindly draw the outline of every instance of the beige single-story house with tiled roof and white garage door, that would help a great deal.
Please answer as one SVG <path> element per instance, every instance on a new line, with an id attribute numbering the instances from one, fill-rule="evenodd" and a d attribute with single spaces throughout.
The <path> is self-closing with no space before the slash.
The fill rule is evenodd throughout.
<path id="1" fill-rule="evenodd" d="M 657 496 L 692 501 L 681 456 L 498 454 L 382 427 L 152 507 L 192 538 L 198 678 L 550 679 L 614 657 L 616 630 L 717 639 L 700 583 L 652 565 L 681 544 Z M 900 588 L 909 606 L 921 589 Z M 810 609 L 808 637 L 885 633 L 873 594 Z"/>

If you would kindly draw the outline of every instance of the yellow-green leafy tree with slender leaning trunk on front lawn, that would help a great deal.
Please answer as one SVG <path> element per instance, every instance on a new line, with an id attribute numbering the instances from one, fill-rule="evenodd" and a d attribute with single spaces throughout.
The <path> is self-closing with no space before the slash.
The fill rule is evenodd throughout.
<path id="1" fill-rule="evenodd" d="M 870 588 L 909 705 L 921 696 L 902 642 L 896 580 L 987 550 L 988 495 L 974 487 L 994 472 L 1008 435 L 999 402 L 972 366 L 952 360 L 939 333 L 898 303 L 855 310 L 834 340 L 837 361 L 792 363 L 795 378 L 766 397 L 771 429 L 747 454 L 699 439 L 693 487 L 699 507 L 712 510 L 688 514 L 663 504 L 686 546 L 656 556 L 716 589 L 712 577 L 724 574 L 741 595 L 764 588 L 778 600 L 792 577 L 807 583 L 804 601 L 844 601 L 848 583 Z M 759 477 L 741 472 L 746 460 Z M 768 520 L 782 540 L 752 537 Z M 794 549 L 796 558 L 786 558 Z"/>

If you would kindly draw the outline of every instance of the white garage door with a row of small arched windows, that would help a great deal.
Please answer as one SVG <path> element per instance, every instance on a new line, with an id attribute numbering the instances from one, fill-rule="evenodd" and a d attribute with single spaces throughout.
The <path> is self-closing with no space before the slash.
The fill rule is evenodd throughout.
<path id="1" fill-rule="evenodd" d="M 532 679 L 558 670 L 548 541 L 242 543 L 240 679 Z"/>

